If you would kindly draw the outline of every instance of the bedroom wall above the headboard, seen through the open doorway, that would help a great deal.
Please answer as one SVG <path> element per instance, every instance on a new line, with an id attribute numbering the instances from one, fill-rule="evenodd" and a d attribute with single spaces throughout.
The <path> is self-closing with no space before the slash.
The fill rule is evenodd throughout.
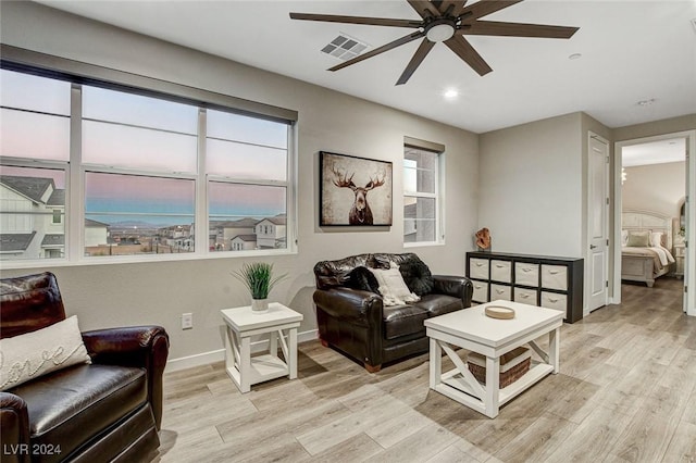
<path id="1" fill-rule="evenodd" d="M 621 187 L 624 210 L 659 212 L 679 217 L 680 201 L 686 196 L 686 163 L 625 167 L 626 182 Z"/>

